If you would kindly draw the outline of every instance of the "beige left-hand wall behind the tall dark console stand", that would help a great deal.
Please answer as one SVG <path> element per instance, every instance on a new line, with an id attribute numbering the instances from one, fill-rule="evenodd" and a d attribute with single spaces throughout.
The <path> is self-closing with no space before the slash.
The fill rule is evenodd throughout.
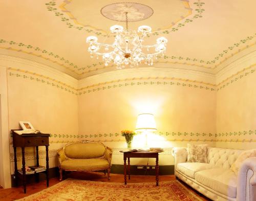
<path id="1" fill-rule="evenodd" d="M 56 151 L 64 143 L 77 141 L 77 80 L 49 66 L 26 59 L 1 56 L 8 83 L 9 129 L 18 129 L 19 121 L 29 121 L 34 128 L 51 133 L 49 166 L 57 166 Z M 12 137 L 2 133 L 10 145 L 11 173 L 14 172 Z M 6 151 L 6 150 L 5 150 Z M 22 166 L 17 149 L 18 168 Z M 25 149 L 26 165 L 35 164 L 35 148 Z M 39 163 L 45 165 L 45 147 L 39 147 Z M 10 173 L 8 174 L 10 177 Z"/>

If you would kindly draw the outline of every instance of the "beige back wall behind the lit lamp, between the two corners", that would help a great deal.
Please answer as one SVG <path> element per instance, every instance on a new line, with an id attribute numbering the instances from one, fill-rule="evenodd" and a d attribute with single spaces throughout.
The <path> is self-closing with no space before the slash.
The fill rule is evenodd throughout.
<path id="1" fill-rule="evenodd" d="M 152 113 L 160 137 L 148 145 L 165 147 L 159 163 L 173 165 L 171 147 L 186 146 L 187 142 L 214 145 L 214 81 L 208 73 L 159 68 L 115 71 L 79 80 L 79 136 L 111 146 L 113 164 L 122 164 L 119 150 L 126 144 L 120 131 L 134 130 L 139 114 Z M 134 141 L 135 147 L 144 146 Z M 133 160 L 136 163 L 144 164 L 144 160 Z"/>

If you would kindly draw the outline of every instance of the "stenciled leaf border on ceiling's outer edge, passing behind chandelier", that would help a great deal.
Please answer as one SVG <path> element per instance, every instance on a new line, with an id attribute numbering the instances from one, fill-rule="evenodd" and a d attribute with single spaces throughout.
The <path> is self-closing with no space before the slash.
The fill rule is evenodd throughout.
<path id="1" fill-rule="evenodd" d="M 233 52 L 232 54 L 230 54 L 229 56 L 225 56 L 228 52 L 230 52 L 233 49 L 239 48 L 241 46 L 241 44 L 245 44 L 246 42 L 252 40 L 253 38 L 256 37 L 256 33 L 254 33 L 252 36 L 248 36 L 244 39 L 241 39 L 239 42 L 234 43 L 232 46 L 229 46 L 226 50 L 223 50 L 222 53 L 219 53 L 218 56 L 216 56 L 214 59 L 212 59 L 211 61 L 205 61 L 203 59 L 197 59 L 197 58 L 189 58 L 189 57 L 182 57 L 182 56 L 167 56 L 164 55 L 162 57 L 162 60 L 157 60 L 155 63 L 172 63 L 172 64 L 187 64 L 187 65 L 192 65 L 192 66 L 198 66 L 198 67 L 202 67 L 202 68 L 206 68 L 206 69 L 216 69 L 223 61 L 227 60 L 228 58 L 240 53 L 241 51 L 252 47 L 256 44 L 256 41 L 253 42 L 252 44 L 249 44 L 243 48 L 240 48 L 238 51 Z M 104 66 L 103 62 L 98 62 L 98 63 L 92 63 L 89 64 L 87 66 L 83 66 L 83 67 L 79 67 L 77 65 L 75 65 L 73 62 L 69 61 L 68 59 L 65 59 L 63 57 L 60 57 L 59 55 L 53 53 L 53 52 L 49 52 L 45 49 L 41 49 L 38 47 L 33 47 L 30 44 L 24 44 L 22 42 L 15 42 L 15 41 L 7 41 L 4 39 L 0 39 L 0 43 L 8 43 L 10 46 L 18 46 L 18 47 L 23 47 L 26 48 L 27 50 L 34 50 L 38 53 L 33 53 L 30 51 L 26 51 L 26 50 L 22 50 L 22 49 L 16 49 L 16 48 L 12 48 L 12 47 L 0 47 L 0 49 L 6 49 L 6 50 L 11 50 L 11 51 L 16 51 L 16 52 L 23 52 L 29 55 L 34 55 L 46 60 L 49 60 L 53 63 L 57 63 L 60 66 L 63 66 L 64 68 L 70 70 L 71 72 L 76 73 L 77 75 L 83 75 L 86 73 L 90 73 L 90 72 L 94 72 L 94 71 L 98 71 L 98 70 L 102 70 L 102 69 L 108 69 L 108 68 L 113 68 L 114 65 L 109 65 L 109 66 Z M 69 66 L 66 66 L 63 63 L 60 63 L 59 61 L 53 60 L 49 57 L 43 56 L 42 54 L 46 54 L 48 56 L 54 57 L 55 59 L 59 59 L 59 61 L 64 62 L 65 64 L 68 64 Z M 225 56 L 225 58 L 224 58 Z M 224 58 L 223 60 L 221 60 L 218 64 L 216 64 L 217 60 L 220 60 L 221 58 Z M 170 60 L 177 60 L 177 61 L 170 61 Z M 189 63 L 189 62 L 199 62 L 199 63 Z M 205 66 L 203 65 L 203 63 L 205 64 L 215 64 L 214 66 Z M 94 68 L 95 67 L 95 68 Z M 86 70 L 86 71 L 84 71 Z M 81 73 L 79 73 L 79 71 L 83 71 Z"/>

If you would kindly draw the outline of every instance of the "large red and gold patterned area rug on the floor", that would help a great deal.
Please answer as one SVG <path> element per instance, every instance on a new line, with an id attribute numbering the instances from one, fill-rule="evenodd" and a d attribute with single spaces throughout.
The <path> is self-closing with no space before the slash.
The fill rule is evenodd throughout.
<path id="1" fill-rule="evenodd" d="M 121 184 L 67 179 L 19 200 L 102 200 L 102 201 L 202 201 L 178 181 Z"/>

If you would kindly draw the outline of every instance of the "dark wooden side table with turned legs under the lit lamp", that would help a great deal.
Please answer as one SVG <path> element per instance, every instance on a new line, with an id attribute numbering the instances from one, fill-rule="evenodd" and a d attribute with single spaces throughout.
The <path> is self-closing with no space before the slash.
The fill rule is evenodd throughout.
<path id="1" fill-rule="evenodd" d="M 158 186 L 159 182 L 159 165 L 158 165 L 158 153 L 156 151 L 134 151 L 134 152 L 123 152 L 123 170 L 124 170 L 124 184 L 127 184 L 126 181 L 126 159 L 128 158 L 128 178 L 130 180 L 130 158 L 156 158 L 156 185 Z"/>

